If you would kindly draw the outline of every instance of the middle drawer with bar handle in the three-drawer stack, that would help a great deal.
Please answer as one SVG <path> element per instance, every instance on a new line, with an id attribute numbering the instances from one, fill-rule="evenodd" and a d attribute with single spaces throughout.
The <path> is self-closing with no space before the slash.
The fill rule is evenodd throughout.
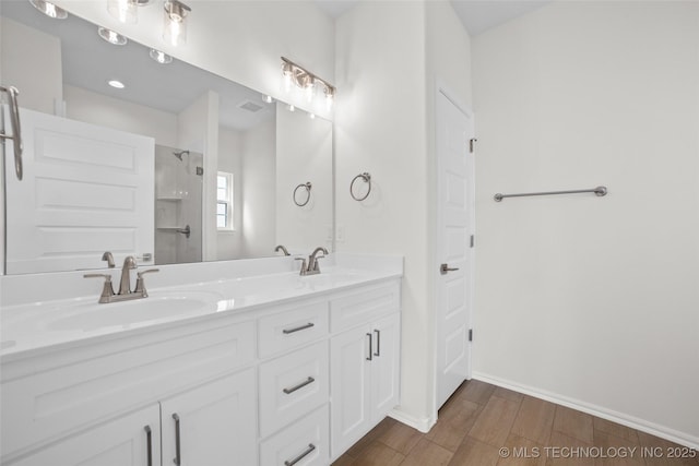
<path id="1" fill-rule="evenodd" d="M 260 366 L 260 434 L 266 437 L 328 402 L 328 342 Z"/>

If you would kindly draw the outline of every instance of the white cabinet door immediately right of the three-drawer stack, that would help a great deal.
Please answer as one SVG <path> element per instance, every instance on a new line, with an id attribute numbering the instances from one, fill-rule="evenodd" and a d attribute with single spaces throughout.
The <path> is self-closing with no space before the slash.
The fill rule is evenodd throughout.
<path id="1" fill-rule="evenodd" d="M 335 457 L 371 427 L 371 327 L 343 332 L 331 339 L 331 454 Z"/>

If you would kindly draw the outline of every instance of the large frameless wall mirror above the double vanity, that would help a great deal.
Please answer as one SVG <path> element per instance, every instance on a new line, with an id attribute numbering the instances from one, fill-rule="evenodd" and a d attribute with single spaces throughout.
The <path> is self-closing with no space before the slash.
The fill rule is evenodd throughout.
<path id="1" fill-rule="evenodd" d="M 0 14 L 25 153 L 19 181 L 5 144 L 5 273 L 332 249 L 330 121 L 71 14 Z"/>

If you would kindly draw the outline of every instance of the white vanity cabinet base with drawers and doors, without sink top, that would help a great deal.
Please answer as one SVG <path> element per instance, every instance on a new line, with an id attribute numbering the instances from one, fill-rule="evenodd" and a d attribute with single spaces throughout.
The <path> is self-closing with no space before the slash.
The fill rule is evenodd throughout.
<path id="1" fill-rule="evenodd" d="M 327 466 L 399 404 L 399 355 L 392 277 L 5 356 L 0 464 Z"/>

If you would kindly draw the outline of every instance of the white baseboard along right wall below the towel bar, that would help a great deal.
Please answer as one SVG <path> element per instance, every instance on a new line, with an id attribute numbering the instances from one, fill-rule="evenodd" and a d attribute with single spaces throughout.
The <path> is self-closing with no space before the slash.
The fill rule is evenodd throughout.
<path id="1" fill-rule="evenodd" d="M 630 427 L 632 429 L 640 430 L 641 432 L 650 433 L 651 435 L 660 437 L 661 439 L 670 440 L 671 442 L 679 443 L 680 445 L 685 445 L 690 449 L 699 450 L 698 437 L 689 435 L 685 432 L 679 432 L 665 426 L 660 426 L 633 416 L 625 415 L 624 413 L 581 402 L 580 399 L 569 398 L 567 396 L 562 396 L 557 393 L 548 392 L 533 386 L 521 385 L 519 383 L 493 377 L 483 372 L 473 372 L 473 379 L 490 383 L 493 385 L 501 386 L 503 389 L 509 389 L 514 392 L 520 392 L 535 398 L 556 403 L 568 408 L 577 409 L 592 416 L 596 416 L 613 422 L 620 423 L 623 426 Z"/>

